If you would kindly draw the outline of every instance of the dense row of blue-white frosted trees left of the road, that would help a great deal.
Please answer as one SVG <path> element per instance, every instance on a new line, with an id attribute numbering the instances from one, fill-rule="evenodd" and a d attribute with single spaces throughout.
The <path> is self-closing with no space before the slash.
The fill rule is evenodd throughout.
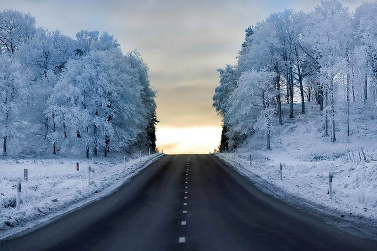
<path id="1" fill-rule="evenodd" d="M 76 39 L 0 12 L 0 135 L 3 154 L 155 151 L 155 91 L 137 51 L 107 32 Z"/>

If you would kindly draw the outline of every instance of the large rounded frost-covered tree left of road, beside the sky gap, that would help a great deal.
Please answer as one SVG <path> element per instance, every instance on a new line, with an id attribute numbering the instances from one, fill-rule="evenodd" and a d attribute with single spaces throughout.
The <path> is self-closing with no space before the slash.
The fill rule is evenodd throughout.
<path id="1" fill-rule="evenodd" d="M 140 55 L 124 56 L 118 46 L 97 48 L 67 62 L 46 110 L 57 128 L 49 134 L 52 144 L 62 142 L 71 152 L 86 149 L 87 158 L 101 147 L 105 157 L 110 149 L 127 148 L 138 135 L 148 135 L 155 118 L 147 66 L 135 66 L 143 62 Z"/>

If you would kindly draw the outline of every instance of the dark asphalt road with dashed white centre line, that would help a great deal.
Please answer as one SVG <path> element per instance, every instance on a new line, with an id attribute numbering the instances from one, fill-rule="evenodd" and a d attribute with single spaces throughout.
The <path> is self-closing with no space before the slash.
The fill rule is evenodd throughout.
<path id="1" fill-rule="evenodd" d="M 0 250 L 377 250 L 262 193 L 211 155 L 168 155 Z"/>

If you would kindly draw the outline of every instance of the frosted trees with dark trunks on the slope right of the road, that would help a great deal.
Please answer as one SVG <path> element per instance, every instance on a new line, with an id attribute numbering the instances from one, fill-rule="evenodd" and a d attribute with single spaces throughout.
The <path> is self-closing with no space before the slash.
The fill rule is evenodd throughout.
<path id="1" fill-rule="evenodd" d="M 274 119 L 283 124 L 282 104 L 315 100 L 322 111 L 323 136 L 337 140 L 337 113 L 350 107 L 373 109 L 377 98 L 377 3 L 349 12 L 337 0 L 314 11 L 285 10 L 248 27 L 236 65 L 218 69 L 213 106 L 222 117 L 220 150 L 236 148 L 256 130 L 266 132 L 270 149 Z M 276 116 L 277 114 L 277 116 Z"/>

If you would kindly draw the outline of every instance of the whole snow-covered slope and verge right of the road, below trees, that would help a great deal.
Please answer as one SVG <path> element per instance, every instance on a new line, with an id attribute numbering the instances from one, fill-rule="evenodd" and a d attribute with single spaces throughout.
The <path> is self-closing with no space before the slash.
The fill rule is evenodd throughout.
<path id="1" fill-rule="evenodd" d="M 339 218 L 338 224 L 365 227 L 366 235 L 377 236 L 377 152 L 374 150 L 377 127 L 373 115 L 357 110 L 351 114 L 350 143 L 344 136 L 346 124 L 339 115 L 339 139 L 331 143 L 329 137 L 323 137 L 323 116 L 318 110 L 316 105 L 309 104 L 307 114 L 286 119 L 283 126 L 274 125 L 271 150 L 265 149 L 265 133 L 258 131 L 236 150 L 235 158 L 233 152 L 217 155 L 259 186 L 269 187 L 267 192 L 280 198 L 288 196 L 293 203 Z M 279 163 L 283 167 L 282 181 Z M 332 200 L 329 172 L 333 173 Z"/>

